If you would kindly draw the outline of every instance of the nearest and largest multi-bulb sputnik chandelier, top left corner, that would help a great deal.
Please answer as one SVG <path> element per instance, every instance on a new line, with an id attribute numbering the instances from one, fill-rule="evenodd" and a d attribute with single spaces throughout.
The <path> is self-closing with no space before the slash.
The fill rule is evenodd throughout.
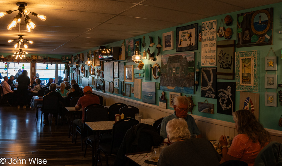
<path id="1" fill-rule="evenodd" d="M 46 16 L 44 15 L 39 15 L 35 12 L 29 12 L 29 10 L 27 10 L 25 8 L 25 6 L 27 6 L 27 3 L 25 2 L 18 2 L 17 3 L 17 6 L 19 6 L 18 8 L 18 15 L 16 15 L 16 17 L 14 17 L 14 19 L 12 20 L 12 22 L 7 26 L 7 29 L 8 30 L 12 30 L 12 28 L 15 28 L 17 26 L 17 23 L 21 23 L 22 21 L 22 15 L 24 17 L 24 22 L 26 23 L 26 30 L 28 32 L 31 31 L 31 29 L 34 29 L 35 28 L 35 24 L 31 21 L 30 17 L 28 16 L 29 13 L 31 13 L 32 15 L 40 18 L 41 20 L 45 21 L 46 20 Z M 6 12 L 0 12 L 0 18 L 3 17 L 4 15 L 7 15 L 7 14 L 11 14 L 12 12 L 15 12 L 17 10 L 8 10 Z"/>

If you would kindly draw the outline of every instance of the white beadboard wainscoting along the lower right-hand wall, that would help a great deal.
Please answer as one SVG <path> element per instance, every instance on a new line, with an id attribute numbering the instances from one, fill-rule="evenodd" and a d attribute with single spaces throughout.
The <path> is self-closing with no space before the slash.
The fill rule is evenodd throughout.
<path id="1" fill-rule="evenodd" d="M 110 106 L 117 102 L 121 102 L 126 105 L 137 107 L 142 114 L 142 118 L 152 118 L 156 120 L 174 113 L 173 110 L 159 108 L 157 105 L 151 105 L 113 94 L 103 93 L 102 91 L 93 90 L 93 93 L 104 98 L 105 106 Z M 233 139 L 233 137 L 238 134 L 235 129 L 235 123 L 206 118 L 193 114 L 190 115 L 194 117 L 199 130 L 202 132 L 202 137 L 207 140 L 218 140 L 221 135 L 229 136 Z M 266 130 L 270 132 L 272 141 L 278 141 L 282 143 L 282 131 L 273 129 Z"/>

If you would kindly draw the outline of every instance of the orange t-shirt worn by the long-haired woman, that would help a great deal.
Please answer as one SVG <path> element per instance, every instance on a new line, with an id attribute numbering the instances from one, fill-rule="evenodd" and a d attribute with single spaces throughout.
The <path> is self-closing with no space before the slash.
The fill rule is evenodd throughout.
<path id="1" fill-rule="evenodd" d="M 247 135 L 239 134 L 234 137 L 227 154 L 248 163 L 248 166 L 254 166 L 256 156 L 263 148 L 259 142 L 253 143 Z"/>

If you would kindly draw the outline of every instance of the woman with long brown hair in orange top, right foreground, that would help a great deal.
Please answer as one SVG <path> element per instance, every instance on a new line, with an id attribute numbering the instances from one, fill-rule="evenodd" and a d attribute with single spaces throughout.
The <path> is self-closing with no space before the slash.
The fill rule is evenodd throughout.
<path id="1" fill-rule="evenodd" d="M 226 137 L 221 135 L 219 143 L 223 146 L 222 157 L 225 161 L 240 160 L 253 166 L 256 156 L 271 142 L 270 134 L 249 110 L 237 110 L 233 113 L 233 120 L 238 135 L 234 137 L 229 150 Z"/>

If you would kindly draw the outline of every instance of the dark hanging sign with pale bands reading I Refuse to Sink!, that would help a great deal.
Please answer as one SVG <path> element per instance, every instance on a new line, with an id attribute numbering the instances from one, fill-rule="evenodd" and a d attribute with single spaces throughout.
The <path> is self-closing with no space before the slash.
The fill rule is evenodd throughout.
<path id="1" fill-rule="evenodd" d="M 218 79 L 234 79 L 235 40 L 217 42 L 217 71 Z"/>

